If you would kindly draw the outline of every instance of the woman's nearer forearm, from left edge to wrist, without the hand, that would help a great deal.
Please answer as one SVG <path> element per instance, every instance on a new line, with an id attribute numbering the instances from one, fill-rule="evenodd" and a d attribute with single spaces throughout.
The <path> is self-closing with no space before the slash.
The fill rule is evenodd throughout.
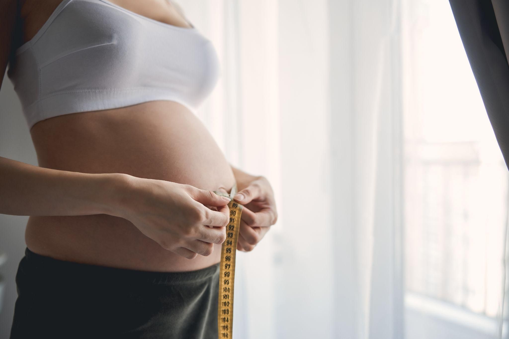
<path id="1" fill-rule="evenodd" d="M 32 166 L 0 157 L 0 213 L 115 214 L 128 175 L 88 174 Z"/>

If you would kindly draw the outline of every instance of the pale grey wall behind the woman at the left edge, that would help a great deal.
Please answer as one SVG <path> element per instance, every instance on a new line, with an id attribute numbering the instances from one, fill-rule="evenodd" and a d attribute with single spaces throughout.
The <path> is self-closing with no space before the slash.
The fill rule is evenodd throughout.
<path id="1" fill-rule="evenodd" d="M 4 77 L 0 90 L 0 157 L 37 165 L 29 129 L 21 112 L 21 105 L 11 81 Z M 11 330 L 19 261 L 24 255 L 24 232 L 28 217 L 0 214 L 0 252 L 7 253 L 7 262 L 0 266 L 6 289 L 0 311 L 0 338 L 8 338 Z"/>

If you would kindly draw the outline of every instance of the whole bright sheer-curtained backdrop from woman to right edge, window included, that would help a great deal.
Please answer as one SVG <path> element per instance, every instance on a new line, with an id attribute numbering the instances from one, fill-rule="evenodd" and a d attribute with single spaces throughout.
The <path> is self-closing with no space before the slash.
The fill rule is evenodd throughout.
<path id="1" fill-rule="evenodd" d="M 428 20 L 439 37 L 450 36 L 448 14 L 434 16 L 428 3 L 439 1 L 181 0 L 221 59 L 222 79 L 201 117 L 232 164 L 271 181 L 279 212 L 257 248 L 239 254 L 237 338 L 497 336 L 506 182 L 493 179 L 504 175 L 496 144 L 447 115 L 478 95 L 459 87 L 473 77 L 451 76 L 450 98 L 422 95 L 442 88 L 432 76 L 444 83 L 426 62 L 456 44 L 430 40 L 419 26 Z M 460 66 L 458 75 L 470 72 Z M 463 118 L 485 129 L 482 106 L 464 102 L 461 112 L 471 114 Z M 433 114 L 438 120 L 426 120 Z M 423 141 L 421 127 L 463 133 L 474 145 L 467 148 L 484 149 L 477 167 L 465 170 L 452 139 L 427 145 L 419 158 L 412 147 Z M 449 171 L 447 162 L 445 177 L 415 175 L 424 172 L 409 161 L 433 157 L 460 167 Z M 443 223 L 449 214 L 456 219 Z"/>

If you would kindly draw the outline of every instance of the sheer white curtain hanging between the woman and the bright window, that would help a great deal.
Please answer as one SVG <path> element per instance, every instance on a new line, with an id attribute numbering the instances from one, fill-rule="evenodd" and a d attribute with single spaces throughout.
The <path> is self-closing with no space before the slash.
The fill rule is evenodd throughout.
<path id="1" fill-rule="evenodd" d="M 236 335 L 397 337 L 396 5 L 181 3 L 222 60 L 203 120 L 233 164 L 269 178 L 280 214 L 240 255 Z"/>

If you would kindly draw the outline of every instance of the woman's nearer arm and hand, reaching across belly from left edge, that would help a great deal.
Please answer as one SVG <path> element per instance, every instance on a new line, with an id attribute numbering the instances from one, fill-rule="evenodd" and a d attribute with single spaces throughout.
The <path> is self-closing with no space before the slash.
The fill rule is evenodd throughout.
<path id="1" fill-rule="evenodd" d="M 0 0 L 0 83 L 12 50 L 17 1 Z M 0 213 L 106 213 L 130 221 L 162 248 L 188 259 L 208 256 L 214 243 L 224 241 L 229 202 L 213 191 L 177 182 L 60 171 L 0 157 Z"/>

